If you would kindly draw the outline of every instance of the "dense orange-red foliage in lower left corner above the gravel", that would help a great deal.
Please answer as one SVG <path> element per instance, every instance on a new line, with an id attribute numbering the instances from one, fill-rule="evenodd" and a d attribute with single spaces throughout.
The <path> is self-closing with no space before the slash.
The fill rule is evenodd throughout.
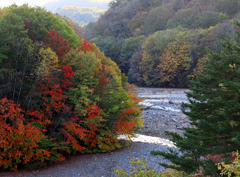
<path id="1" fill-rule="evenodd" d="M 13 101 L 0 100 L 0 167 L 16 170 L 19 163 L 45 161 L 50 152 L 40 149 L 42 131 L 24 125 L 24 111 Z"/>

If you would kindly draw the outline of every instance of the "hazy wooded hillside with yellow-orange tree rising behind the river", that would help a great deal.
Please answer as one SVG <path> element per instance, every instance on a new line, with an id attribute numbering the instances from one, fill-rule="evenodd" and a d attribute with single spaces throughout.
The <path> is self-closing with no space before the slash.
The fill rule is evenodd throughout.
<path id="1" fill-rule="evenodd" d="M 187 87 L 208 61 L 207 48 L 234 35 L 239 0 L 114 0 L 88 39 L 115 61 L 131 83 Z"/>

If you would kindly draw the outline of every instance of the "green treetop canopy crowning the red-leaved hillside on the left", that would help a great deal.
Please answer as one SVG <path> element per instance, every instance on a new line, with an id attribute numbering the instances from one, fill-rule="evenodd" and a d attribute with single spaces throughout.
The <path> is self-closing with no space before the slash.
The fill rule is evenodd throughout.
<path id="1" fill-rule="evenodd" d="M 1 33 L 5 36 L 9 36 L 8 43 L 13 43 L 13 39 L 26 35 L 28 32 L 24 29 L 24 22 L 29 19 L 32 21 L 31 26 L 34 27 L 33 35 L 39 40 L 43 41 L 49 29 L 56 29 L 63 35 L 63 37 L 69 41 L 71 46 L 79 44 L 77 35 L 73 29 L 69 27 L 65 21 L 59 19 L 51 12 L 47 12 L 41 8 L 30 8 L 27 5 L 20 7 L 9 7 L 9 13 L 1 18 Z M 41 24 L 38 21 L 41 20 Z M 5 30 L 5 31 L 4 31 Z M 16 33 L 18 31 L 19 33 Z M 18 35 L 18 36 L 14 36 Z M 25 36 L 26 37 L 26 36 Z M 6 44 L 5 43 L 5 44 Z"/>

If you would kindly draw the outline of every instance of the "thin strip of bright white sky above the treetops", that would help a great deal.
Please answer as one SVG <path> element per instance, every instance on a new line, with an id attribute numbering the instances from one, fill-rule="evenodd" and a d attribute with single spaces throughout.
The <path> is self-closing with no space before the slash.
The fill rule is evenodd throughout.
<path id="1" fill-rule="evenodd" d="M 24 3 L 28 3 L 30 6 L 43 6 L 44 4 L 55 1 L 55 0 L 0 0 L 0 7 L 7 7 L 16 3 L 17 5 L 22 5 Z M 67 1 L 67 0 L 66 0 Z M 84 0 L 79 0 L 84 1 Z M 110 2 L 110 0 L 90 0 L 92 2 Z"/>

